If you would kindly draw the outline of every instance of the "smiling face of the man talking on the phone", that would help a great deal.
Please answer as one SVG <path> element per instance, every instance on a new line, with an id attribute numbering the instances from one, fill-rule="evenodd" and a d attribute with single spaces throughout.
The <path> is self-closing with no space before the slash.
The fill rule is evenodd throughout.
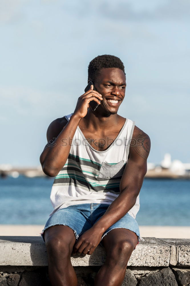
<path id="1" fill-rule="evenodd" d="M 124 72 L 119 68 L 103 68 L 94 81 L 94 86 L 103 98 L 96 109 L 97 113 L 105 116 L 116 114 L 125 97 L 126 76 Z"/>

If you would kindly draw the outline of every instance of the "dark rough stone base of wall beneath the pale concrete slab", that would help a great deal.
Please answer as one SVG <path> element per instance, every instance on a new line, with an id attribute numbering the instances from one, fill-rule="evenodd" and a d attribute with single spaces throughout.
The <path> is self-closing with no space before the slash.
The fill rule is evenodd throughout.
<path id="1" fill-rule="evenodd" d="M 101 266 L 74 266 L 78 286 L 94 286 Z M 129 266 L 122 286 L 189 286 L 190 268 Z M 51 286 L 47 266 L 0 266 L 1 286 Z"/>

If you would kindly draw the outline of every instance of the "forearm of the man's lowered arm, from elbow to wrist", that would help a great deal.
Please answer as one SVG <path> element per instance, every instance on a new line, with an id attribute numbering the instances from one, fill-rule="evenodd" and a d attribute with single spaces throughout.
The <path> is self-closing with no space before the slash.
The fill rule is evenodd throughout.
<path id="1" fill-rule="evenodd" d="M 120 220 L 135 205 L 137 198 L 136 192 L 124 190 L 110 204 L 104 215 L 93 225 L 94 229 L 104 233 L 106 229 Z"/>

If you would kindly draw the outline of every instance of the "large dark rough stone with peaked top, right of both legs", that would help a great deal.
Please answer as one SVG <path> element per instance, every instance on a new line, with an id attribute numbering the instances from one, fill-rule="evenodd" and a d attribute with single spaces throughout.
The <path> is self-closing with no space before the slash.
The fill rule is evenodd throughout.
<path id="1" fill-rule="evenodd" d="M 175 275 L 169 267 L 163 268 L 158 272 L 152 272 L 140 280 L 139 286 L 178 286 Z"/>

